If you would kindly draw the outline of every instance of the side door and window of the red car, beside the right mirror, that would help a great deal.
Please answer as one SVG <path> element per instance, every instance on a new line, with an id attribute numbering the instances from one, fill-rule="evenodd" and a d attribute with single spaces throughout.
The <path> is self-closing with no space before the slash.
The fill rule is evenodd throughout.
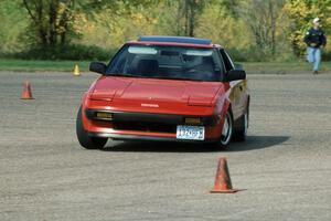
<path id="1" fill-rule="evenodd" d="M 224 49 L 220 49 L 221 56 L 224 61 L 224 65 L 226 72 L 234 70 L 235 65 L 228 54 L 225 52 Z M 234 119 L 241 117 L 245 112 L 245 90 L 246 90 L 246 81 L 233 81 L 229 82 L 231 85 L 231 93 L 229 99 L 232 101 L 232 112 Z"/>

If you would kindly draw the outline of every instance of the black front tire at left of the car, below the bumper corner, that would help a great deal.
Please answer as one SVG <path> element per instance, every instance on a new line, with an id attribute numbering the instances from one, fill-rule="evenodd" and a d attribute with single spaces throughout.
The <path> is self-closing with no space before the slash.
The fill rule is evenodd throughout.
<path id="1" fill-rule="evenodd" d="M 108 138 L 99 138 L 99 137 L 89 137 L 87 131 L 84 129 L 83 120 L 82 120 L 82 106 L 78 109 L 77 113 L 77 119 L 76 119 L 76 135 L 77 139 L 82 147 L 85 149 L 102 149 Z"/>

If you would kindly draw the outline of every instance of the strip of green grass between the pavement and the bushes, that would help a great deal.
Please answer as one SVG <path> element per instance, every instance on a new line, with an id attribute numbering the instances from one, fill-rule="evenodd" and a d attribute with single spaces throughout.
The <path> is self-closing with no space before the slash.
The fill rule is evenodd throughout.
<path id="1" fill-rule="evenodd" d="M 18 72 L 72 72 L 78 64 L 82 72 L 88 71 L 88 61 L 25 61 L 0 59 L 0 71 Z M 311 64 L 305 62 L 259 62 L 242 63 L 248 73 L 307 73 L 311 71 Z M 331 72 L 331 62 L 322 62 L 321 72 Z"/>

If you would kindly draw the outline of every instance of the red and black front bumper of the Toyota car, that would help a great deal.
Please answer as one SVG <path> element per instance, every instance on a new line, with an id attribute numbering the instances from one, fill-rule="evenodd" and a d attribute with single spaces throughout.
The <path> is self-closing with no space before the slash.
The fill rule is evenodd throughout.
<path id="1" fill-rule="evenodd" d="M 111 118 L 100 119 L 96 113 L 111 113 Z M 200 124 L 186 124 L 186 118 L 197 117 Z M 191 141 L 177 139 L 177 126 L 204 126 L 205 139 L 194 143 L 216 141 L 223 125 L 217 115 L 182 116 L 170 114 L 110 112 L 105 109 L 85 109 L 83 114 L 84 128 L 93 137 L 107 137 L 128 140 L 159 140 L 159 141 Z"/>

